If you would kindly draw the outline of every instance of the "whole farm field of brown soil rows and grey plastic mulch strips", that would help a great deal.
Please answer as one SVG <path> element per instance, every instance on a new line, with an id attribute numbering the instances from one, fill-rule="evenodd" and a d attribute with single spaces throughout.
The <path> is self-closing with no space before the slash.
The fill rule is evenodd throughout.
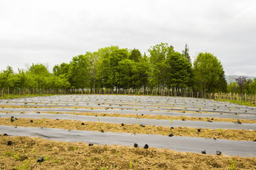
<path id="1" fill-rule="evenodd" d="M 24 97 L 0 106 L 2 169 L 256 168 L 255 107 L 124 95 Z"/>

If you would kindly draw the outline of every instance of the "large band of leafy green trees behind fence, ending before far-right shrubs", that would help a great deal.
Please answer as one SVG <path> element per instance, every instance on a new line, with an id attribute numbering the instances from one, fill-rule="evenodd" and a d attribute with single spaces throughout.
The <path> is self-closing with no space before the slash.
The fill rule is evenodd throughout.
<path id="1" fill-rule="evenodd" d="M 93 93 L 143 90 L 167 92 L 227 92 L 227 81 L 220 60 L 212 53 L 198 53 L 193 66 L 188 45 L 182 52 L 168 43 L 140 50 L 109 46 L 97 52 L 72 57 L 49 72 L 44 64 L 32 64 L 14 73 L 12 67 L 0 73 L 0 88 L 9 92 Z M 164 95 L 163 94 L 163 95 Z"/>

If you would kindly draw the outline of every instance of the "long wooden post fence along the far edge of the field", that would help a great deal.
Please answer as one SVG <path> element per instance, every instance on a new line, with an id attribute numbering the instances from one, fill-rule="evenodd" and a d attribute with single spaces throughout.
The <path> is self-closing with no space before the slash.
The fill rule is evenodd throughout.
<path id="1" fill-rule="evenodd" d="M 166 89 L 1 89 L 1 99 L 10 97 L 23 97 L 35 95 L 54 94 L 125 94 L 142 96 L 180 96 L 214 99 L 218 101 L 228 101 L 230 103 L 246 104 L 256 106 L 256 95 L 235 94 L 235 93 L 202 93 L 192 90 L 166 90 Z"/>

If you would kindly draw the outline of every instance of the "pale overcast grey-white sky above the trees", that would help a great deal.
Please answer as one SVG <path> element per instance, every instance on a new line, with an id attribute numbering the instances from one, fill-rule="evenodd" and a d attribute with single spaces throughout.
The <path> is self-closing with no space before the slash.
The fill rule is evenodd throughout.
<path id="1" fill-rule="evenodd" d="M 256 76 L 256 1 L 0 1 L 0 70 L 32 63 L 52 70 L 117 45 L 141 53 L 159 43 L 195 60 L 213 53 L 225 74 Z"/>

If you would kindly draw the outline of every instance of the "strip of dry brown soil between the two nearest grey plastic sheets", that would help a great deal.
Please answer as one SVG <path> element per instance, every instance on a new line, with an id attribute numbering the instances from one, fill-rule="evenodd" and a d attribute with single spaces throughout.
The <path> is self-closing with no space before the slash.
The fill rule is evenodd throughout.
<path id="1" fill-rule="evenodd" d="M 134 134 L 160 134 L 168 136 L 172 133 L 175 136 L 191 136 L 198 138 L 216 138 L 216 139 L 230 139 L 237 141 L 254 141 L 256 139 L 256 131 L 237 130 L 237 129 L 198 129 L 190 127 L 170 127 L 146 125 L 142 127 L 140 124 L 122 126 L 121 124 L 109 124 L 99 122 L 83 122 L 77 120 L 52 120 L 46 118 L 31 119 L 18 118 L 14 122 L 10 118 L 0 118 L 0 125 L 12 125 L 21 127 L 49 127 L 68 130 L 80 131 L 104 131 L 104 132 L 125 132 Z"/>

